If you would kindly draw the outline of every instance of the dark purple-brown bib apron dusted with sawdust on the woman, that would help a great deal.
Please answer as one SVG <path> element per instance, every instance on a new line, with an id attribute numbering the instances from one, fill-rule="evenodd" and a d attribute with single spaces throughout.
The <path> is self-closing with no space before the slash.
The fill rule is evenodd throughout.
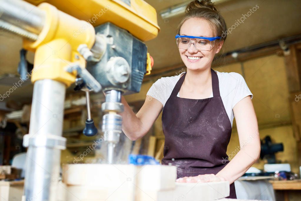
<path id="1" fill-rule="evenodd" d="M 177 178 L 216 174 L 229 162 L 226 150 L 232 131 L 219 93 L 219 79 L 211 69 L 211 98 L 180 98 L 177 94 L 185 75 L 178 80 L 163 108 L 162 164 L 175 165 Z M 228 198 L 236 198 L 234 183 Z"/>

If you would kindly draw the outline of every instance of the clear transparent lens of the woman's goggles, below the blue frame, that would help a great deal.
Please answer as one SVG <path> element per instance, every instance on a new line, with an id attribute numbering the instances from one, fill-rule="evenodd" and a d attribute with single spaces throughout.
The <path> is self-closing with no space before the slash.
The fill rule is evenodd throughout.
<path id="1" fill-rule="evenodd" d="M 184 50 L 188 50 L 190 45 L 193 44 L 198 51 L 210 51 L 215 44 L 215 40 L 209 41 L 206 39 L 198 39 L 198 38 L 191 39 L 191 38 L 181 37 L 181 38 L 177 38 L 176 41 L 177 41 L 178 48 Z"/>

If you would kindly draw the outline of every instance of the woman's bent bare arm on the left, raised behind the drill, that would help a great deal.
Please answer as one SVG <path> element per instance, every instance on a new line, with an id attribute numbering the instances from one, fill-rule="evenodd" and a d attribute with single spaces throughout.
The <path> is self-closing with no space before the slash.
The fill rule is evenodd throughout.
<path id="1" fill-rule="evenodd" d="M 121 103 L 124 105 L 124 111 L 120 113 L 122 130 L 133 141 L 142 138 L 149 131 L 163 108 L 159 100 L 148 95 L 137 114 L 133 112 L 123 96 Z"/>

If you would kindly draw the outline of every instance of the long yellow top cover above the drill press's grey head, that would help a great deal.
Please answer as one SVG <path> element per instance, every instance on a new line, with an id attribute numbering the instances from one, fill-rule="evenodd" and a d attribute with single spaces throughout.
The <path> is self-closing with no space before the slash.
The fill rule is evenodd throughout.
<path id="1" fill-rule="evenodd" d="M 26 0 L 39 5 L 47 2 L 79 20 L 86 20 L 94 27 L 111 22 L 126 29 L 141 41 L 154 39 L 160 27 L 156 10 L 143 0 L 131 0 L 128 5 L 121 0 Z"/>

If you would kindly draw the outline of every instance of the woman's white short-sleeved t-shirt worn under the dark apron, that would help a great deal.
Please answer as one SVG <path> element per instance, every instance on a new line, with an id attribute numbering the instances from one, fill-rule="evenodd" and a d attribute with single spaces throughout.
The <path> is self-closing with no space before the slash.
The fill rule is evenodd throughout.
<path id="1" fill-rule="evenodd" d="M 222 97 L 222 101 L 224 103 L 226 112 L 231 122 L 231 126 L 233 125 L 234 113 L 233 107 L 244 97 L 251 95 L 251 99 L 253 98 L 253 94 L 251 93 L 249 87 L 247 86 L 244 77 L 239 73 L 224 73 L 215 71 L 219 78 L 219 92 Z M 183 72 L 184 73 L 184 72 Z M 170 77 L 162 77 L 158 79 L 151 88 L 147 91 L 146 95 L 156 98 L 159 100 L 163 107 L 168 100 L 175 84 L 180 79 L 180 76 L 170 76 Z M 179 96 L 179 93 L 177 95 Z M 213 97 L 213 94 L 209 96 Z"/>

